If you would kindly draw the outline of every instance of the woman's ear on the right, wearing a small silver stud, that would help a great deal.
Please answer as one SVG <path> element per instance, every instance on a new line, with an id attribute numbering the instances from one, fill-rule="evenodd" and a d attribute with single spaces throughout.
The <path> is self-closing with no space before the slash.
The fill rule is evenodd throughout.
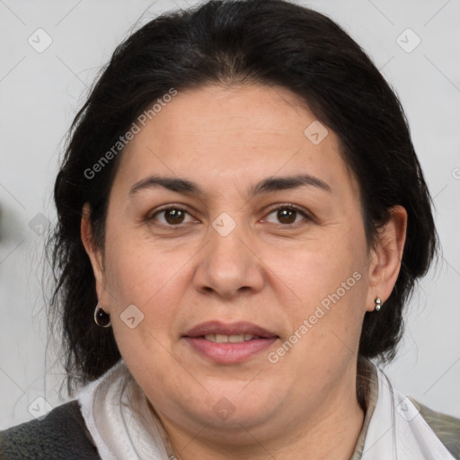
<path id="1" fill-rule="evenodd" d="M 385 300 L 391 295 L 398 279 L 406 240 L 407 212 L 402 206 L 394 206 L 388 222 L 379 230 L 375 247 L 369 258 L 369 288 L 366 310 L 373 311 L 376 297 Z"/>

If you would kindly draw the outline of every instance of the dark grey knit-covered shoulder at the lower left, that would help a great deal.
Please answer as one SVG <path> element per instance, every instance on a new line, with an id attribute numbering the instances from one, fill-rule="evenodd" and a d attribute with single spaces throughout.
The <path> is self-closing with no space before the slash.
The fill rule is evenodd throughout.
<path id="1" fill-rule="evenodd" d="M 57 406 L 44 419 L 0 431 L 0 460 L 98 459 L 77 401 Z"/>

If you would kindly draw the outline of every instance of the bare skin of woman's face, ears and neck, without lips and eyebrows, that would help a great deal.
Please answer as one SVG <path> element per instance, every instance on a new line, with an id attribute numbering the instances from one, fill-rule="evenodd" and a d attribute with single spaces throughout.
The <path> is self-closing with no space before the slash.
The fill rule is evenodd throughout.
<path id="1" fill-rule="evenodd" d="M 315 119 L 281 87 L 180 91 L 123 153 L 103 251 L 92 243 L 84 206 L 82 239 L 99 303 L 180 460 L 305 459 L 306 452 L 347 459 L 355 447 L 361 325 L 376 296 L 385 302 L 394 287 L 407 217 L 395 207 L 376 246 L 367 246 L 358 185 L 338 138 L 331 129 L 318 145 L 305 137 Z M 299 173 L 331 190 L 248 193 L 261 180 Z M 203 194 L 162 187 L 129 194 L 153 174 L 196 182 Z M 280 215 L 289 204 L 307 217 Z M 158 212 L 165 205 L 186 209 L 180 225 Z M 226 236 L 212 226 L 222 213 L 235 224 Z M 271 363 L 268 353 L 353 273 L 354 286 Z M 128 305 L 144 314 L 134 329 L 120 318 Z M 259 324 L 279 339 L 241 363 L 217 364 L 183 338 L 209 320 Z M 233 411 L 225 419 L 216 410 L 223 401 Z"/>

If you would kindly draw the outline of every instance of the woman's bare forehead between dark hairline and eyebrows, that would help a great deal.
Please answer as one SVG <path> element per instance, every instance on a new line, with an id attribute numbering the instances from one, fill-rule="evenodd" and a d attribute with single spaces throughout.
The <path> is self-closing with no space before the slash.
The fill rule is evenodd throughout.
<path id="1" fill-rule="evenodd" d="M 282 87 L 208 85 L 179 91 L 144 124 L 119 165 L 116 181 L 125 189 L 148 173 L 185 175 L 215 192 L 293 173 L 335 184 L 351 180 L 336 135 Z M 311 137 L 312 131 L 318 136 Z"/>

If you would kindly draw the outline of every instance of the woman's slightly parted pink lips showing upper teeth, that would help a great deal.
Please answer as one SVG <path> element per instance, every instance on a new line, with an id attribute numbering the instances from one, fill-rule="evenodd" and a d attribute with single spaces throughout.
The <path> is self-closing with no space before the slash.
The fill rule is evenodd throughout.
<path id="1" fill-rule="evenodd" d="M 261 354 L 279 339 L 275 332 L 254 323 L 201 323 L 182 338 L 201 358 L 219 364 L 237 364 Z"/>

